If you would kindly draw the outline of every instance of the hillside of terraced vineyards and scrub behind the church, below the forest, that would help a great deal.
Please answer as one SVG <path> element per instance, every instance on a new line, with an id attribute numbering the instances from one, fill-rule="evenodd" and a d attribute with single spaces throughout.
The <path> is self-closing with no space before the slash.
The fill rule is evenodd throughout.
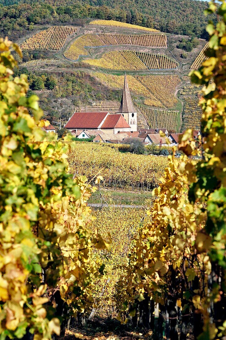
<path id="1" fill-rule="evenodd" d="M 204 39 L 94 20 L 76 27 L 35 25 L 18 43 L 23 60 L 16 74 L 28 75 L 30 94 L 40 97 L 55 125 L 84 108 L 115 112 L 126 70 L 138 128 L 199 128 L 199 89 L 189 90 L 187 75 L 200 60 Z"/>

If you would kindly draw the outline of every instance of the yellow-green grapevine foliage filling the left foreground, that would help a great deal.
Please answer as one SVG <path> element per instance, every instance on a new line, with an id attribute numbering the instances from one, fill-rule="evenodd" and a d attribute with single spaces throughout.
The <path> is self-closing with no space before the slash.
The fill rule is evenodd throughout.
<path id="1" fill-rule="evenodd" d="M 105 243 L 88 229 L 86 177 L 68 174 L 70 144 L 41 130 L 38 97 L 26 97 L 25 75 L 12 77 L 12 48 L 21 54 L 0 39 L 0 333 L 51 339 L 64 302 L 74 315 L 89 303 L 91 248 Z"/>

